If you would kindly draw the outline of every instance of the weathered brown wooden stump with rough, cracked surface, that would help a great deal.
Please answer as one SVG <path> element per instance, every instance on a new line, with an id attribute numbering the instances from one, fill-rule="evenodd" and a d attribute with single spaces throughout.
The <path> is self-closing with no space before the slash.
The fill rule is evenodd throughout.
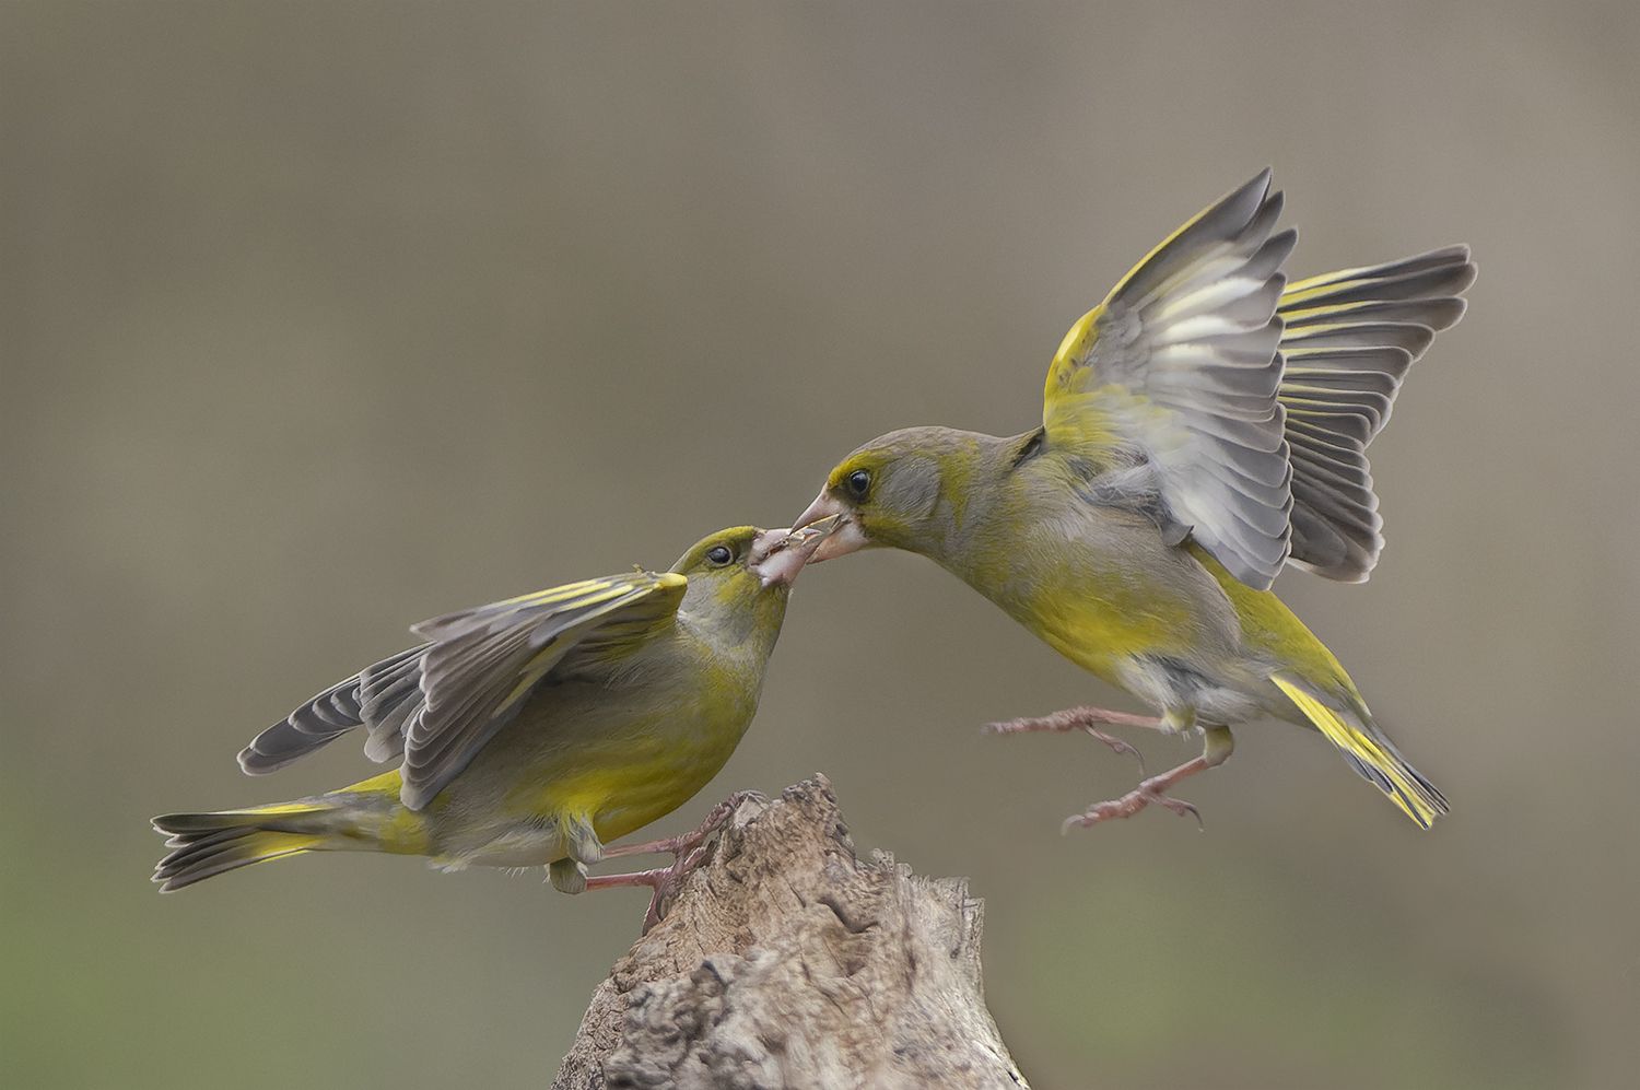
<path id="1" fill-rule="evenodd" d="M 854 857 L 825 777 L 741 803 L 592 995 L 554 1090 L 1025 1087 L 963 879 Z"/>

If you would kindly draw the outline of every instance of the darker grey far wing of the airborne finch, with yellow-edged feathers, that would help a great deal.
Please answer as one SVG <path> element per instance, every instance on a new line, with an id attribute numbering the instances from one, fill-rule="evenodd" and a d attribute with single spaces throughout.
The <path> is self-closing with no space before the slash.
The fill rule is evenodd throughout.
<path id="1" fill-rule="evenodd" d="M 1276 397 L 1292 464 L 1292 552 L 1301 567 L 1363 582 L 1384 547 L 1366 444 L 1389 420 L 1407 369 L 1463 316 L 1468 246 L 1296 280 L 1281 293 Z"/>

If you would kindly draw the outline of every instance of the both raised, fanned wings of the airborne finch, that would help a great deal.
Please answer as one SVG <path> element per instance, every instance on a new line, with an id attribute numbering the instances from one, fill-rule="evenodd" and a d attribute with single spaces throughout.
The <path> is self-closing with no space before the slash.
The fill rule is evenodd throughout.
<path id="1" fill-rule="evenodd" d="M 1051 447 L 1155 472 L 1163 529 L 1264 588 L 1287 559 L 1363 580 L 1383 549 L 1366 444 L 1465 313 L 1466 246 L 1286 282 L 1264 170 L 1163 239 L 1059 344 Z M 1097 490 L 1100 502 L 1109 502 Z"/>

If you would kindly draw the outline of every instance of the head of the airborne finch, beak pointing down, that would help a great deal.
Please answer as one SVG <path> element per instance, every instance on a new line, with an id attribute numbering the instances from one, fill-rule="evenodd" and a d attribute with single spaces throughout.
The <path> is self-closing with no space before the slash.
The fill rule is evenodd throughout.
<path id="1" fill-rule="evenodd" d="M 902 428 L 877 436 L 836 464 L 795 529 L 835 518 L 813 562 L 868 546 L 927 552 L 941 538 L 941 497 L 974 464 L 982 436 L 951 428 Z M 961 482 L 954 482 L 961 484 Z"/>

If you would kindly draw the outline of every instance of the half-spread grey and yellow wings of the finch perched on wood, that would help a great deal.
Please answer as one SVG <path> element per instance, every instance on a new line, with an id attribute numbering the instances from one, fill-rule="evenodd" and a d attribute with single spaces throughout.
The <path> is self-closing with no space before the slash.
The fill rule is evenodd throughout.
<path id="1" fill-rule="evenodd" d="M 630 572 L 554 587 L 412 626 L 428 643 L 361 670 L 256 736 L 239 754 L 274 772 L 356 726 L 372 761 L 402 759 L 400 798 L 423 808 L 554 669 L 645 643 L 677 613 L 687 579 Z"/>

